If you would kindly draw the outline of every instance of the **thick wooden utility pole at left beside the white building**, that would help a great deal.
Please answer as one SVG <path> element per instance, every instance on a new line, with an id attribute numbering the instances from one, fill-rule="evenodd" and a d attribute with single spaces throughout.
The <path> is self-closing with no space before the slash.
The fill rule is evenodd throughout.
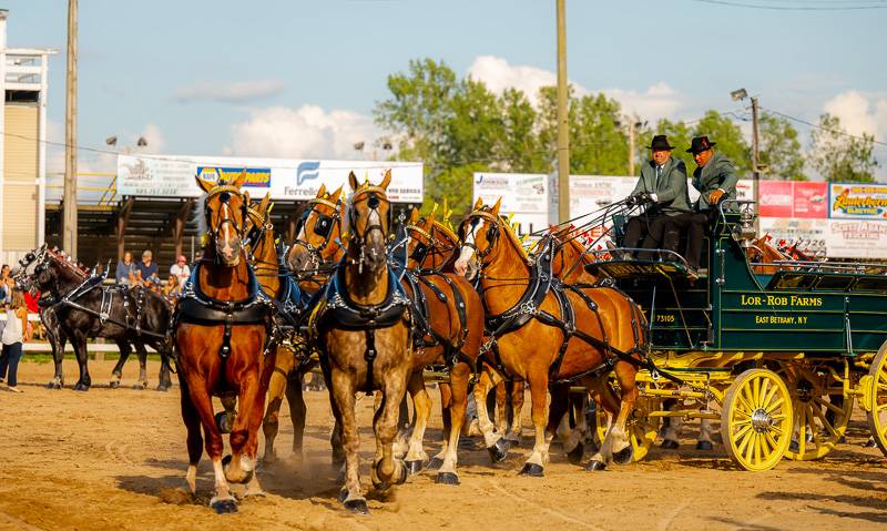
<path id="1" fill-rule="evenodd" d="M 77 256 L 77 2 L 68 0 L 68 93 L 64 105 L 62 247 Z"/>

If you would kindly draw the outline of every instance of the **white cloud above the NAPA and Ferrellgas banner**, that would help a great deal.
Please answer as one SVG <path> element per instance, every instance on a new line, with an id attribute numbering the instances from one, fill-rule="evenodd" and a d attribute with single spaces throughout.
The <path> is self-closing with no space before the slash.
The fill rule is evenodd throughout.
<path id="1" fill-rule="evenodd" d="M 355 159 L 354 144 L 365 152 L 378 136 L 373 119 L 353 111 L 324 111 L 317 105 L 298 109 L 273 106 L 253 111 L 249 120 L 231 127 L 232 155 Z"/>

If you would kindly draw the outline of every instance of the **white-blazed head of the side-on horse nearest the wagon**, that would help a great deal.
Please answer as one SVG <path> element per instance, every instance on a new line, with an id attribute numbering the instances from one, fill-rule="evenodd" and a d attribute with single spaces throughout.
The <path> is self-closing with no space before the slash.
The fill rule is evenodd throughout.
<path id="1" fill-rule="evenodd" d="M 462 245 L 453 267 L 456 273 L 465 275 L 469 280 L 475 279 L 499 243 L 499 236 L 504 228 L 499 218 L 501 204 L 501 197 L 492 206 L 485 206 L 483 202 L 478 200 L 473 212 L 459 225 L 459 241 Z"/>

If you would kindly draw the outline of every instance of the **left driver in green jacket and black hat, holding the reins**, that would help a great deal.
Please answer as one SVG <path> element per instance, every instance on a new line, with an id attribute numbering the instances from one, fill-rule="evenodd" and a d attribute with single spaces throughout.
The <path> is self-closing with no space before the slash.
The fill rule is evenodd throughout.
<path id="1" fill-rule="evenodd" d="M 653 136 L 649 150 L 652 159 L 641 166 L 641 178 L 629 196 L 629 205 L 646 204 L 643 214 L 632 216 L 625 226 L 625 238 L 622 246 L 628 249 L 659 248 L 663 243 L 665 222 L 683 213 L 691 212 L 690 195 L 686 190 L 686 165 L 680 159 L 672 157 L 669 139 L 664 134 Z M 643 238 L 643 243 L 641 243 Z M 677 242 L 673 243 L 677 251 Z M 623 254 L 623 259 L 631 259 L 632 252 Z"/>

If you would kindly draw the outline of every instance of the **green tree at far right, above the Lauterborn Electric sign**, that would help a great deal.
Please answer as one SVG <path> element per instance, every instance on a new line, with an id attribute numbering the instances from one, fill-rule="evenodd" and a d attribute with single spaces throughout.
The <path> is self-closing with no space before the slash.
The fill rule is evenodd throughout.
<path id="1" fill-rule="evenodd" d="M 878 166 L 874 142 L 867 133 L 861 137 L 848 135 L 837 116 L 825 113 L 819 116 L 819 129 L 810 135 L 807 161 L 826 181 L 873 183 Z"/>

